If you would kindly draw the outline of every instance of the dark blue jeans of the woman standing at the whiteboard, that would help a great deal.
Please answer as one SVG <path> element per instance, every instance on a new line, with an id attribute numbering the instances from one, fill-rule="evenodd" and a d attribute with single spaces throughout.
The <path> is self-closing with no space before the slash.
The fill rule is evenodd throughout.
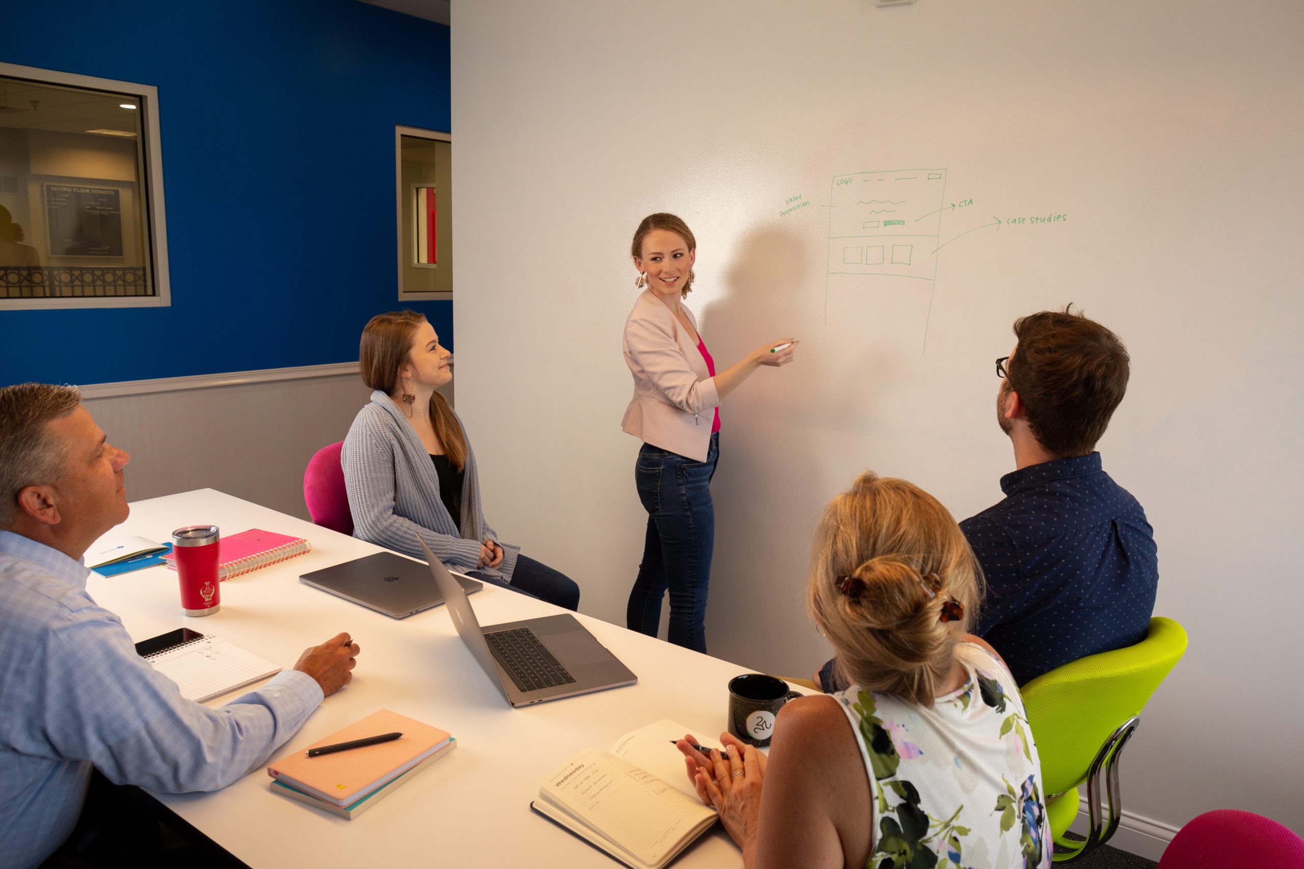
<path id="1" fill-rule="evenodd" d="M 639 500 L 648 512 L 643 563 L 630 591 L 625 624 L 656 636 L 661 597 L 670 590 L 670 642 L 707 650 L 707 585 L 716 542 L 711 478 L 720 459 L 720 433 L 711 435 L 705 461 L 643 444 L 634 465 Z"/>

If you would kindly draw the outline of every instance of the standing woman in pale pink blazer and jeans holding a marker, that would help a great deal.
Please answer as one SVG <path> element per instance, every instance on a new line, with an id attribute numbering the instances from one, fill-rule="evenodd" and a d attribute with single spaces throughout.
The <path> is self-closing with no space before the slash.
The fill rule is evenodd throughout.
<path id="1" fill-rule="evenodd" d="M 716 363 L 683 305 L 698 242 L 673 214 L 643 219 L 630 253 L 643 292 L 625 322 L 625 363 L 634 399 L 621 427 L 643 440 L 634 478 L 648 512 L 643 562 L 626 625 L 656 636 L 670 591 L 670 642 L 707 650 L 707 584 L 716 517 L 711 478 L 720 456 L 720 403 L 762 365 L 793 361 L 793 339 L 759 347 L 716 374 Z"/>

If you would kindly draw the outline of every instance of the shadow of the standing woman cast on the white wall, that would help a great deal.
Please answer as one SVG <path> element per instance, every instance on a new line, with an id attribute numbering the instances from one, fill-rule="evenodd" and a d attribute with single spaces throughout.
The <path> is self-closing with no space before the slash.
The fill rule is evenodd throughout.
<path id="1" fill-rule="evenodd" d="M 818 449 L 810 417 L 833 395 L 810 370 L 811 345 L 818 341 L 803 337 L 810 331 L 810 313 L 803 310 L 812 268 L 807 246 L 773 225 L 752 229 L 725 271 L 726 293 L 702 317 L 720 367 L 765 343 L 802 339 L 792 365 L 760 369 L 721 408 L 707 610 L 712 654 L 793 674 L 806 655 L 788 649 L 767 664 L 764 651 L 776 634 L 808 631 L 803 608 L 808 530 L 824 502 L 811 486 Z M 797 661 L 785 664 L 789 658 Z"/>

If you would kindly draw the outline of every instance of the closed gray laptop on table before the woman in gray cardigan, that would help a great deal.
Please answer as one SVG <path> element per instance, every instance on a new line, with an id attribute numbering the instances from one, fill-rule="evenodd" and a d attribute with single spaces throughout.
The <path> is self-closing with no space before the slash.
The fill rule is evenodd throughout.
<path id="1" fill-rule="evenodd" d="M 394 552 L 377 552 L 304 573 L 299 581 L 394 619 L 443 603 L 439 586 L 430 578 L 425 564 Z M 458 582 L 458 588 L 464 589 L 463 594 L 484 588 L 464 576 L 459 576 L 454 585 Z"/>

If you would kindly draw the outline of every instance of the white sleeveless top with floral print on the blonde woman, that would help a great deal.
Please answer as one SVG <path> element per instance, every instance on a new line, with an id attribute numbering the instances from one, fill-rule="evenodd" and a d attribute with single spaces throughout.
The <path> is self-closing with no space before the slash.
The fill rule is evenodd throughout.
<path id="1" fill-rule="evenodd" d="M 1045 869 L 1050 823 L 1041 761 L 1013 677 L 960 644 L 969 671 L 932 709 L 852 685 L 833 694 L 852 720 L 872 787 L 872 869 Z"/>

